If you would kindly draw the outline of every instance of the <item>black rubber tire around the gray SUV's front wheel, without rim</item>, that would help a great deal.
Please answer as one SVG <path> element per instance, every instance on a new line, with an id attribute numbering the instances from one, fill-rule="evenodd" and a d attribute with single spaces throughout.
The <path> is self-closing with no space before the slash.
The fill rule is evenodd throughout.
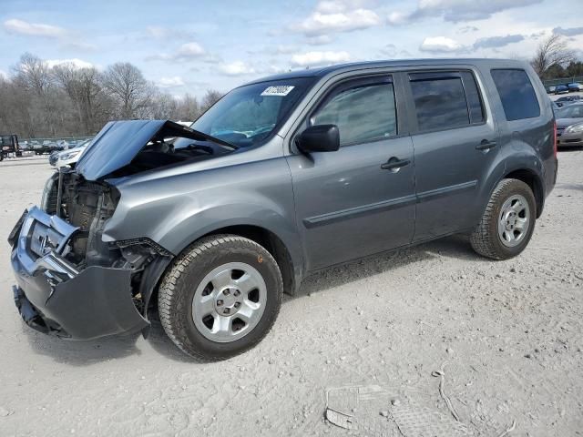
<path id="1" fill-rule="evenodd" d="M 209 272 L 230 262 L 246 263 L 261 274 L 267 301 L 261 319 L 246 335 L 230 342 L 213 341 L 195 325 L 192 301 Z M 159 318 L 181 351 L 199 361 L 220 361 L 251 349 L 267 335 L 280 311 L 282 295 L 281 271 L 266 249 L 251 239 L 214 235 L 191 244 L 170 265 L 159 286 Z"/>

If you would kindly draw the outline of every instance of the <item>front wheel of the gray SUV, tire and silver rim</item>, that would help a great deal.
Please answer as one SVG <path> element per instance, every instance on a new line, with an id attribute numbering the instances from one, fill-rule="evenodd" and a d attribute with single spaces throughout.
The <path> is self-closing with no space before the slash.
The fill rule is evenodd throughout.
<path id="1" fill-rule="evenodd" d="M 170 340 L 201 361 L 251 349 L 271 330 L 283 281 L 271 254 L 251 239 L 215 235 L 193 243 L 159 287 L 159 317 Z"/>

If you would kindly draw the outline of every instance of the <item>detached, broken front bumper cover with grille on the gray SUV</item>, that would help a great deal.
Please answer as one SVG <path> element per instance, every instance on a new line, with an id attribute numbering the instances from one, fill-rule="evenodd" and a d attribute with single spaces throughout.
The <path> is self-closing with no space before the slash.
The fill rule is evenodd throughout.
<path id="1" fill-rule="evenodd" d="M 36 207 L 16 226 L 15 304 L 29 326 L 77 340 L 148 328 L 131 298 L 130 270 L 91 266 L 77 271 L 61 258 L 76 228 Z"/>

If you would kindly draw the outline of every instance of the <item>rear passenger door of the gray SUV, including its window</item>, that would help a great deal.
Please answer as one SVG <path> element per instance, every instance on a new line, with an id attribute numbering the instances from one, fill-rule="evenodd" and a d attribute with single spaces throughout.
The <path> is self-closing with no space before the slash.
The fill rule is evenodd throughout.
<path id="1" fill-rule="evenodd" d="M 469 229 L 481 215 L 476 193 L 498 152 L 494 117 L 471 69 L 406 73 L 413 125 L 414 241 Z"/>

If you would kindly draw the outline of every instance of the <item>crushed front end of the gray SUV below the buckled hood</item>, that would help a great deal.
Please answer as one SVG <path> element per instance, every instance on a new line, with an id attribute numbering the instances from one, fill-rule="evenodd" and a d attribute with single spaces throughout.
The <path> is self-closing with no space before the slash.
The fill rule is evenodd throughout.
<path id="1" fill-rule="evenodd" d="M 117 188 L 62 170 L 41 208 L 25 211 L 9 237 L 15 303 L 27 324 L 89 340 L 142 330 L 149 297 L 171 254 L 148 239 L 104 242 Z"/>

